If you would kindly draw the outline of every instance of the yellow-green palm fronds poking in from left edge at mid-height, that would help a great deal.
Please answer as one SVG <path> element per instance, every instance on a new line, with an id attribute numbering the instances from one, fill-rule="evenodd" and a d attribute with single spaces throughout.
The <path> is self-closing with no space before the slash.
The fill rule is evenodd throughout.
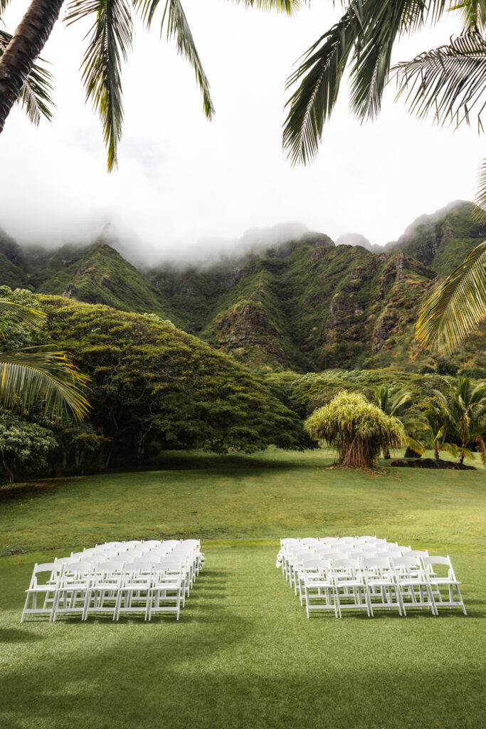
<path id="1" fill-rule="evenodd" d="M 39 324 L 46 316 L 6 299 L 0 299 L 0 312 L 22 324 Z M 79 387 L 88 380 L 66 352 L 44 347 L 0 352 L 0 404 L 5 408 L 28 409 L 42 399 L 50 420 L 60 421 L 66 409 L 76 420 L 83 420 L 90 406 Z"/>

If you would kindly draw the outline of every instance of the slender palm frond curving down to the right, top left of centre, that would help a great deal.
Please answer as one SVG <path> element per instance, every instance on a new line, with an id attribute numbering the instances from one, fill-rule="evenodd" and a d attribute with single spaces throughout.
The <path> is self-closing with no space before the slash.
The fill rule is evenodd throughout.
<path id="1" fill-rule="evenodd" d="M 160 0 L 134 0 L 134 4 L 144 23 L 146 23 L 147 28 L 150 28 Z M 176 39 L 177 52 L 189 61 L 195 71 L 197 86 L 203 95 L 204 113 L 211 120 L 215 110 L 209 90 L 208 78 L 203 69 L 203 64 L 197 52 L 195 40 L 192 36 L 191 28 L 189 28 L 189 23 L 187 23 L 187 17 L 180 0 L 165 0 L 160 27 L 161 34 L 164 30 L 165 20 L 167 20 L 168 40 Z"/>

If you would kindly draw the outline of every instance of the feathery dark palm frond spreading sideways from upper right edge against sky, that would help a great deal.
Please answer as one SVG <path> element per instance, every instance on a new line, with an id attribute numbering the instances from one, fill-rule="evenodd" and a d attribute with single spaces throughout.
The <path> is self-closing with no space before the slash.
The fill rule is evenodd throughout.
<path id="1" fill-rule="evenodd" d="M 434 115 L 440 125 L 470 123 L 477 109 L 477 123 L 486 104 L 486 41 L 476 31 L 452 39 L 449 45 L 421 53 L 393 68 L 399 91 L 409 111 Z"/>

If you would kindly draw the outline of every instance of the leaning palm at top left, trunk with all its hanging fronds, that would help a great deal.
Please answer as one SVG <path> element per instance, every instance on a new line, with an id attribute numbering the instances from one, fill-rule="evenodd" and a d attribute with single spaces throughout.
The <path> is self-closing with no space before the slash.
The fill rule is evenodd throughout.
<path id="1" fill-rule="evenodd" d="M 234 1 L 247 7 L 276 9 L 288 15 L 300 5 L 300 0 Z M 8 3 L 9 0 L 0 0 L 0 15 Z M 26 97 L 35 84 L 37 87 L 30 101 L 31 108 L 36 106 L 38 112 L 34 121 L 40 119 L 39 114 L 50 117 L 52 113 L 50 76 L 34 64 L 58 20 L 63 3 L 64 0 L 32 0 L 15 33 L 0 37 L 0 133 L 16 101 L 23 101 L 29 111 Z M 66 20 L 69 24 L 86 18 L 93 22 L 82 60 L 82 81 L 86 101 L 93 104 L 101 117 L 109 171 L 117 165 L 117 146 L 122 136 L 121 71 L 132 46 L 133 17 L 138 15 L 150 28 L 159 4 L 160 0 L 70 0 L 67 5 Z M 165 32 L 168 39 L 176 40 L 177 51 L 194 69 L 203 95 L 204 113 L 211 119 L 214 107 L 208 79 L 181 1 L 165 0 L 162 7 L 160 32 Z"/>

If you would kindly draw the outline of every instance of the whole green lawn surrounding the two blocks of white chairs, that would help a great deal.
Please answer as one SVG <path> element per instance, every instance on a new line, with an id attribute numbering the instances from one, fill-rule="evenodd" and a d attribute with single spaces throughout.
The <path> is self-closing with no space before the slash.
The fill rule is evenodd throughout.
<path id="1" fill-rule="evenodd" d="M 1 729 L 482 729 L 486 475 L 330 467 L 322 452 L 0 489 Z M 468 616 L 307 620 L 278 537 L 378 534 L 450 554 Z M 20 625 L 35 561 L 105 539 L 200 536 L 176 623 Z"/>

